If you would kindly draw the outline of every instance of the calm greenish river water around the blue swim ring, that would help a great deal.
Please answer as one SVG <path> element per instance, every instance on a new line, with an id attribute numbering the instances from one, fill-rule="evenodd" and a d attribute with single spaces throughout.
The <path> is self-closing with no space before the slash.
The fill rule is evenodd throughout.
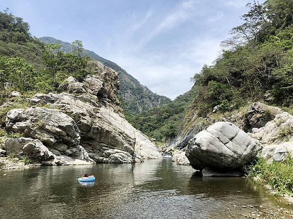
<path id="1" fill-rule="evenodd" d="M 78 183 L 84 173 L 96 182 Z M 170 159 L 2 171 L 0 218 L 241 218 L 281 205 L 250 179 L 194 173 Z"/>

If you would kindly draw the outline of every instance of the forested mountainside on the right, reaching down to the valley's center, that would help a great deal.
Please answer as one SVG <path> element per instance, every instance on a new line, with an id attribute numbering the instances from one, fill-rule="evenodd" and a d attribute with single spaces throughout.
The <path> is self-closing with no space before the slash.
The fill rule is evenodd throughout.
<path id="1" fill-rule="evenodd" d="M 194 75 L 193 88 L 165 106 L 133 117 L 136 128 L 166 141 L 176 136 L 182 122 L 180 130 L 185 130 L 192 119 L 205 120 L 215 106 L 225 113 L 264 101 L 293 111 L 293 1 L 247 6 L 243 24 L 222 42 L 222 54 L 214 64 Z"/>

